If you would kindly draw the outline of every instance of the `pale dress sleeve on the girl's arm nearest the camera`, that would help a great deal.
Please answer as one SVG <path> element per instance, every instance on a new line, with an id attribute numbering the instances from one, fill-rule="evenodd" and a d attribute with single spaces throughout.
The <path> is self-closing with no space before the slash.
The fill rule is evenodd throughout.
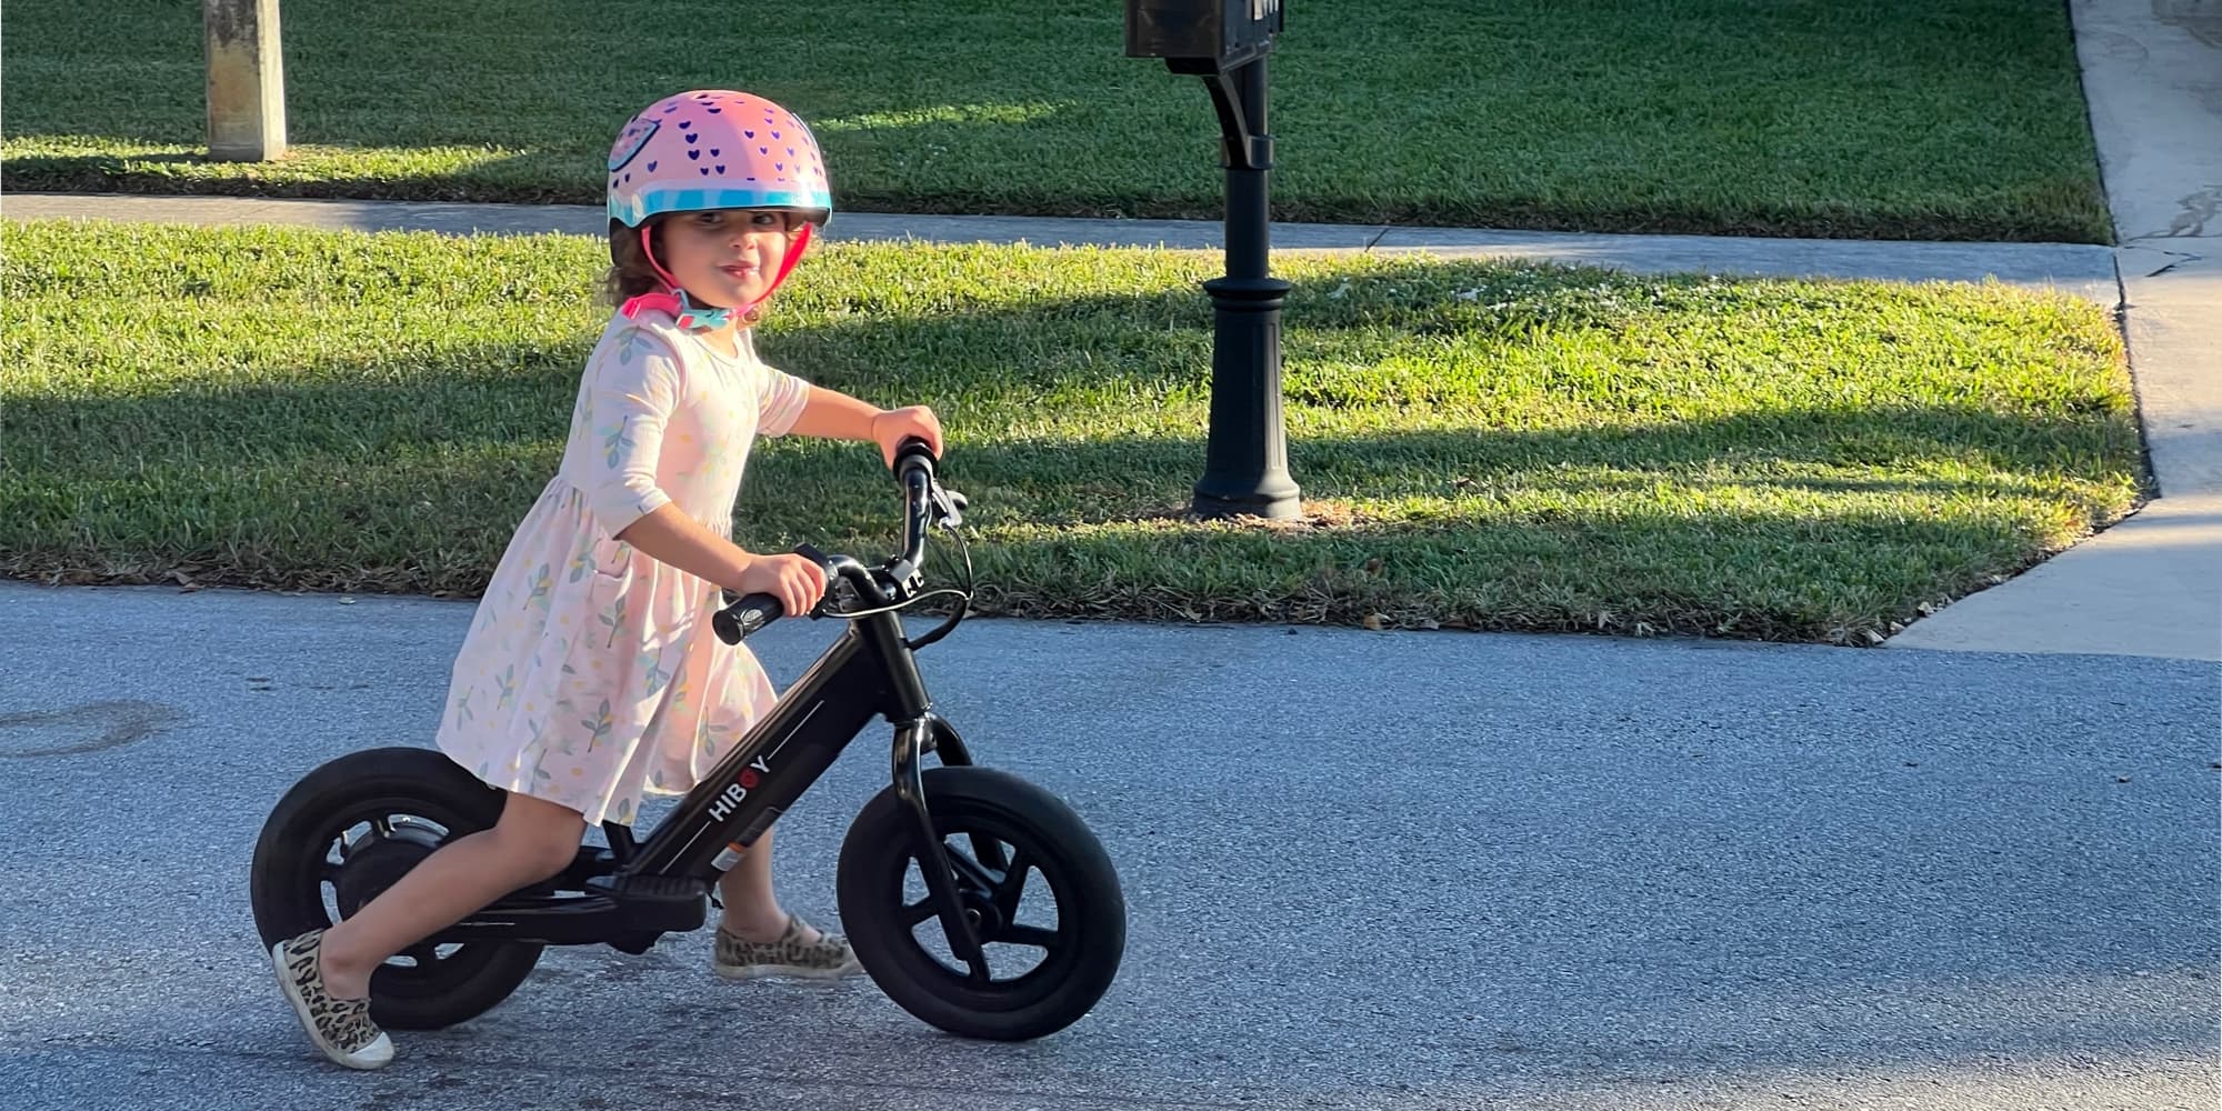
<path id="1" fill-rule="evenodd" d="M 671 502 L 655 484 L 655 460 L 682 393 L 680 362 L 664 340 L 624 329 L 595 353 L 587 382 L 587 436 L 593 438 L 587 504 L 609 536 L 618 536 Z"/>

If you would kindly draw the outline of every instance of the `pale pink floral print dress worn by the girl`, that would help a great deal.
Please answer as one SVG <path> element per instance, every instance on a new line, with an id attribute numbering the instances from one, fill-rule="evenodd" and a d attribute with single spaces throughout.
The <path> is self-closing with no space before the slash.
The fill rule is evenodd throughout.
<path id="1" fill-rule="evenodd" d="M 733 536 L 758 436 L 793 427 L 809 384 L 680 331 L 613 316 L 587 362 L 562 467 L 518 524 L 456 655 L 438 744 L 480 780 L 633 824 L 684 793 L 771 707 L 755 653 L 718 640 L 704 578 L 615 540 L 675 504 Z"/>

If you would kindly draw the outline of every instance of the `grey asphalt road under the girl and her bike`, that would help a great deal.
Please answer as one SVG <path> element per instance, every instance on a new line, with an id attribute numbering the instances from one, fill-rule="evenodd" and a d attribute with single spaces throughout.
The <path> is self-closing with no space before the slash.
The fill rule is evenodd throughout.
<path id="1" fill-rule="evenodd" d="M 982 762 L 1120 867 L 1120 980 L 1031 1044 L 707 933 L 551 951 L 369 1075 L 278 998 L 287 784 L 427 744 L 469 604 L 0 584 L 0 1107 L 2215 1107 L 2218 671 L 2095 655 L 973 622 Z M 758 638 L 780 680 L 833 629 Z M 780 824 L 824 924 L 858 747 Z"/>

